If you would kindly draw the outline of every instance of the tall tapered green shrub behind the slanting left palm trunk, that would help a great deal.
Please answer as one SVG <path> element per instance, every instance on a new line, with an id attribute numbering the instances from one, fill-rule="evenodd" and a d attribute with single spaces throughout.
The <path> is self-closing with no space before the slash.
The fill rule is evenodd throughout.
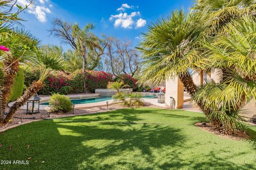
<path id="1" fill-rule="evenodd" d="M 23 89 L 24 89 L 24 74 L 23 74 L 23 70 L 19 69 L 19 72 L 17 73 L 17 75 L 15 75 L 8 102 L 17 100 L 22 95 Z"/>

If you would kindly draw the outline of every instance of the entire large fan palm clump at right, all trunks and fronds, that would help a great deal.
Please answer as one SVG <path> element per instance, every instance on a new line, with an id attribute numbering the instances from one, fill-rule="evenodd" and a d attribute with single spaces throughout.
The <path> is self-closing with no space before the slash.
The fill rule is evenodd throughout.
<path id="1" fill-rule="evenodd" d="M 140 81 L 178 76 L 215 128 L 226 134 L 243 130 L 239 113 L 255 96 L 254 6 L 254 1 L 197 1 L 188 15 L 175 11 L 152 24 L 139 47 L 146 60 Z M 221 69 L 222 80 L 197 87 L 189 69 Z"/>

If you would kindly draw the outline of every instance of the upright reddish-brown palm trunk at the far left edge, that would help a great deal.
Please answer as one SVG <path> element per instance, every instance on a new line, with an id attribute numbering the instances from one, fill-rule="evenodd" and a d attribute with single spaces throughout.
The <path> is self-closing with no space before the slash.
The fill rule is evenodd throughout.
<path id="1" fill-rule="evenodd" d="M 10 96 L 12 84 L 15 78 L 15 75 L 19 71 L 19 62 L 18 61 L 12 61 L 7 60 L 4 61 L 4 82 L 3 87 L 1 89 L 2 94 L 0 94 L 0 118 L 3 117 L 5 113 L 5 107 L 7 105 L 7 101 Z"/>

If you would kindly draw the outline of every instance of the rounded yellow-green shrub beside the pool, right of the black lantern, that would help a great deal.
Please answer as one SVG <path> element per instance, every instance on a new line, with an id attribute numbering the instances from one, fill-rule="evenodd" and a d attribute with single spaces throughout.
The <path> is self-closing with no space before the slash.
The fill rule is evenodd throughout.
<path id="1" fill-rule="evenodd" d="M 50 112 L 69 112 L 73 108 L 73 104 L 69 97 L 53 94 L 49 100 Z"/>

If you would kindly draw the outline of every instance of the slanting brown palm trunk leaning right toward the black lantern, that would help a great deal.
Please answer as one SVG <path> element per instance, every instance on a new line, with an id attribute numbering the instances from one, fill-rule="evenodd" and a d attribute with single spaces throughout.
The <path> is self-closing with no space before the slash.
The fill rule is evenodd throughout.
<path id="1" fill-rule="evenodd" d="M 12 107 L 10 108 L 9 112 L 6 114 L 6 117 L 4 118 L 4 120 L 1 120 L 1 122 L 3 124 L 6 124 L 9 122 L 9 120 L 11 120 L 11 118 L 13 117 L 13 115 L 18 111 L 18 109 L 25 105 L 26 102 L 33 96 L 35 96 L 35 94 L 41 90 L 44 87 L 44 83 L 40 80 L 38 81 L 34 81 L 33 83 L 31 83 L 31 85 L 28 87 L 28 89 L 25 91 L 25 93 L 12 105 Z"/>

